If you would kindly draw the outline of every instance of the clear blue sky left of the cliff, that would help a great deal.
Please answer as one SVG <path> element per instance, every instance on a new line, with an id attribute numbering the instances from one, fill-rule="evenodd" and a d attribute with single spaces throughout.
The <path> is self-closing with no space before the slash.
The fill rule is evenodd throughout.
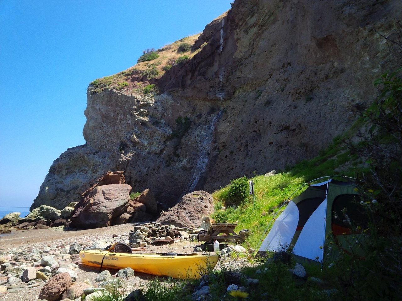
<path id="1" fill-rule="evenodd" d="M 85 143 L 92 80 L 203 31 L 230 1 L 0 0 L 0 206 L 30 206 L 53 160 Z"/>

